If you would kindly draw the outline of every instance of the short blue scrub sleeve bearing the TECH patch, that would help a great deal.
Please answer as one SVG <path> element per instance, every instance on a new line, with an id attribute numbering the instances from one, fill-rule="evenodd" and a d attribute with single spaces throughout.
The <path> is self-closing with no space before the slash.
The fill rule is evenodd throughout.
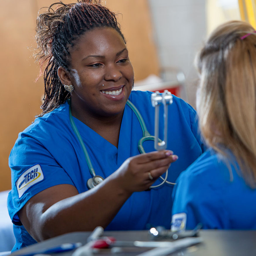
<path id="1" fill-rule="evenodd" d="M 26 133 L 19 135 L 9 157 L 9 166 L 12 171 L 12 191 L 8 197 L 8 208 L 16 225 L 21 224 L 18 211 L 32 196 L 58 184 L 74 185 L 50 152 Z"/>

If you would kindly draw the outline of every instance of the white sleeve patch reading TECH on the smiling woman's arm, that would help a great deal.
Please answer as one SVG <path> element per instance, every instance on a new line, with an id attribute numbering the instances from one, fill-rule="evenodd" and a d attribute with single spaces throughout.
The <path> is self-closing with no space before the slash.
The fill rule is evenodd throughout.
<path id="1" fill-rule="evenodd" d="M 16 181 L 16 187 L 19 194 L 19 198 L 23 196 L 26 190 L 35 185 L 39 181 L 43 180 L 43 171 L 40 164 L 36 164 L 26 170 L 20 175 L 20 178 Z"/>

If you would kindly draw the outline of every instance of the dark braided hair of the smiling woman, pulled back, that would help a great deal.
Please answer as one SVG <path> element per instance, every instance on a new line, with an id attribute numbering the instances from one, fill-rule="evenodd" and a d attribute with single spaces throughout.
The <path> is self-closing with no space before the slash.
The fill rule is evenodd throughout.
<path id="1" fill-rule="evenodd" d="M 94 28 L 110 27 L 124 39 L 115 13 L 101 6 L 100 2 L 78 0 L 70 4 L 53 3 L 46 12 L 38 15 L 36 41 L 39 52 L 35 58 L 40 64 L 39 77 L 43 74 L 45 92 L 42 112 L 37 117 L 52 111 L 70 98 L 70 93 L 64 89 L 58 77 L 58 67 L 62 66 L 70 72 L 70 50 L 81 35 Z"/>

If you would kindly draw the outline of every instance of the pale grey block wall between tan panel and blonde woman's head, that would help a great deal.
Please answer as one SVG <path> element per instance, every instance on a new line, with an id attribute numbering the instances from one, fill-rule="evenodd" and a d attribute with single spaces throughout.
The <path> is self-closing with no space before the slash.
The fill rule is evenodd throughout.
<path id="1" fill-rule="evenodd" d="M 195 107 L 198 75 L 194 59 L 206 37 L 206 1 L 148 1 L 159 66 L 175 67 L 184 72 L 187 86 L 186 100 Z"/>

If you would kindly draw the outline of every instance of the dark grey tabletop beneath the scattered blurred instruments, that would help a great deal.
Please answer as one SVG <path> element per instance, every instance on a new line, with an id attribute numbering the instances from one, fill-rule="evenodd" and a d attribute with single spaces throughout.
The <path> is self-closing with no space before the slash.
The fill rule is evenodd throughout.
<path id="1" fill-rule="evenodd" d="M 86 244 L 90 232 L 75 232 L 58 236 L 38 244 L 23 248 L 11 255 L 21 255 L 37 250 L 58 246 L 63 243 L 81 242 Z M 107 231 L 105 236 L 114 236 L 119 241 L 149 241 L 149 235 L 144 231 Z M 179 256 L 244 256 L 256 255 L 256 231 L 255 230 L 200 230 L 199 236 L 203 239 L 201 244 L 184 249 L 172 255 Z M 115 255 L 138 255 L 149 248 L 125 247 Z M 72 255 L 73 251 L 57 253 L 54 255 Z M 111 255 L 111 249 L 101 249 L 94 255 Z"/>

